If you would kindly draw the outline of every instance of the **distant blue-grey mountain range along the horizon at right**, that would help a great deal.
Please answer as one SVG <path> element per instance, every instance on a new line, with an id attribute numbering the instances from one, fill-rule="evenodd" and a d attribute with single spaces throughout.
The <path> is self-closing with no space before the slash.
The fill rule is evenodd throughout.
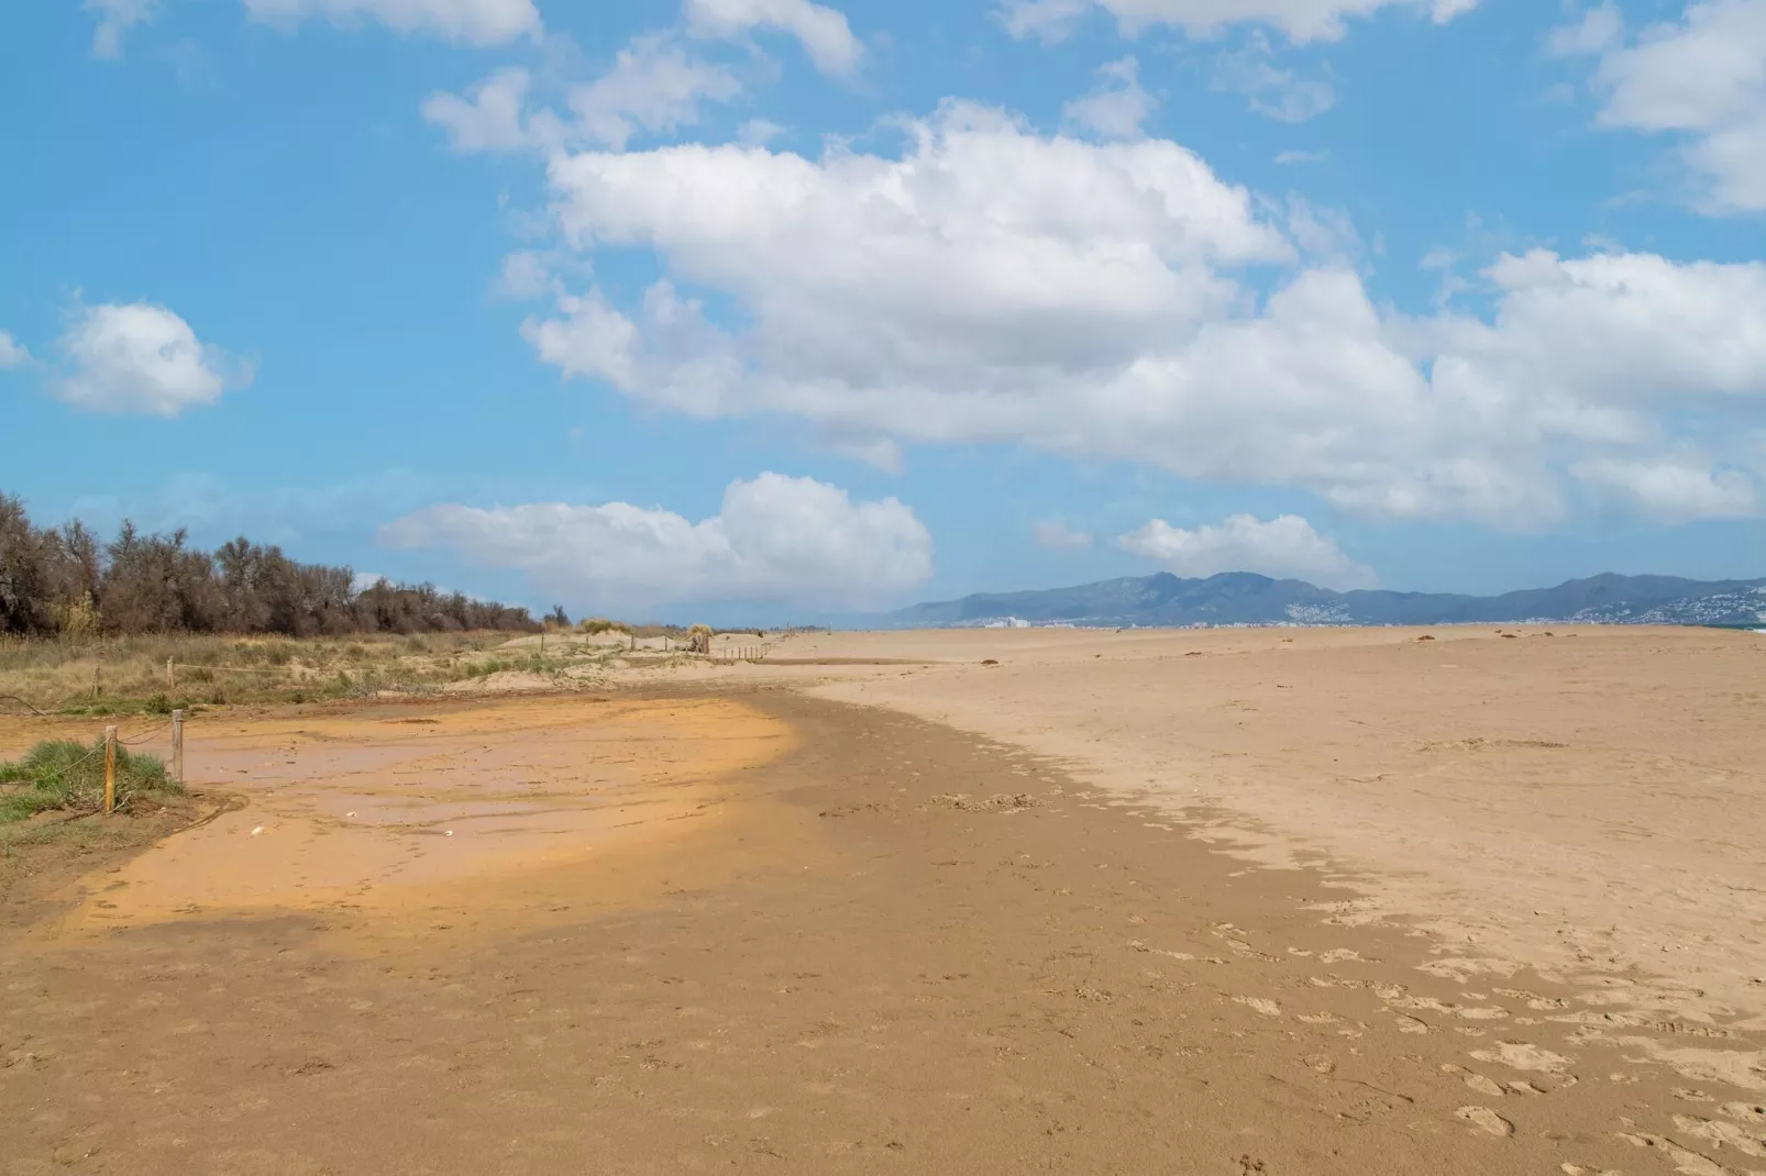
<path id="1" fill-rule="evenodd" d="M 1430 592 L 1332 592 L 1302 579 L 1169 572 L 1077 588 L 977 593 L 865 618 L 888 629 L 1000 622 L 1035 625 L 1453 625 L 1558 622 L 1596 625 L 1766 625 L 1766 579 L 1591 576 L 1556 588 L 1464 597 Z"/>

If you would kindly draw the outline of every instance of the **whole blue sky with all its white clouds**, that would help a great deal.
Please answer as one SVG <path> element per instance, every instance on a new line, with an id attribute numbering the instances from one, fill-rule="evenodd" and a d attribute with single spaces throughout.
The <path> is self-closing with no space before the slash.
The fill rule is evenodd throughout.
<path id="1" fill-rule="evenodd" d="M 23 0 L 0 489 L 791 616 L 1766 574 L 1766 0 Z"/>

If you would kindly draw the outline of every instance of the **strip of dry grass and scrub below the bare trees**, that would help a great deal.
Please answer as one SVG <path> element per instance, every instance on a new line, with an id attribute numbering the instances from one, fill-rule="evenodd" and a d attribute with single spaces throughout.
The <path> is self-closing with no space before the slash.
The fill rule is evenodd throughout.
<path id="1" fill-rule="evenodd" d="M 427 694 L 502 671 L 592 680 L 615 657 L 576 634 L 507 632 L 0 641 L 0 712 L 127 715 L 230 703 Z M 173 662 L 168 682 L 166 662 Z M 11 696 L 11 697 L 7 697 Z"/>

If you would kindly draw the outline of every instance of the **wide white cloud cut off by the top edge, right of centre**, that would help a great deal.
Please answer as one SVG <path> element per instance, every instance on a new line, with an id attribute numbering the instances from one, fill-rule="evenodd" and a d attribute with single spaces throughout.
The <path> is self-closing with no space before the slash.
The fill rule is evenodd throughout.
<path id="1" fill-rule="evenodd" d="M 1116 18 L 1128 35 L 1146 25 L 1174 25 L 1192 37 L 1213 37 L 1229 25 L 1268 25 L 1289 41 L 1335 41 L 1346 18 L 1388 7 L 1427 11 L 1448 21 L 1478 0 L 1003 0 L 1001 16 L 1014 37 L 1060 39 L 1091 11 Z"/>

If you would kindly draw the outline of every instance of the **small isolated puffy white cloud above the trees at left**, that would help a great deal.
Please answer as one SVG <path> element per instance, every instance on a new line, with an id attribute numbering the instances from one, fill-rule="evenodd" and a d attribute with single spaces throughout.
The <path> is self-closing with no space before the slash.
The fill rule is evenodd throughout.
<path id="1" fill-rule="evenodd" d="M 87 411 L 177 417 L 251 381 L 247 366 L 201 343 L 189 323 L 150 302 L 85 307 L 60 350 L 67 374 L 57 392 Z"/>

